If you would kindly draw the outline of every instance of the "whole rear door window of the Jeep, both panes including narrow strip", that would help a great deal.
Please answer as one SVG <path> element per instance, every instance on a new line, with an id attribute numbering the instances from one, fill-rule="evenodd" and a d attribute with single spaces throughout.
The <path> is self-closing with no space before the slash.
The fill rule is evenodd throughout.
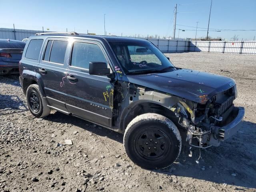
<path id="1" fill-rule="evenodd" d="M 44 51 L 44 61 L 64 64 L 68 41 L 49 40 Z"/>

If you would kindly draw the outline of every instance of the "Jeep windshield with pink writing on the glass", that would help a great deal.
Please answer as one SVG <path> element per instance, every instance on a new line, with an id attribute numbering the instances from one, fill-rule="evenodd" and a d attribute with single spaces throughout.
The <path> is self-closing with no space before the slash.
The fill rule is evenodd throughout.
<path id="1" fill-rule="evenodd" d="M 150 42 L 109 43 L 127 74 L 175 70 L 168 58 Z"/>

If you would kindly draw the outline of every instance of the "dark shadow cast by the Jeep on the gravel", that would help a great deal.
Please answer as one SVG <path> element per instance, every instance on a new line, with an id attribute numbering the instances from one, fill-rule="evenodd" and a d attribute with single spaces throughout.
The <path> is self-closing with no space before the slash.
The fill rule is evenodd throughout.
<path id="1" fill-rule="evenodd" d="M 99 129 L 98 126 L 94 127 L 93 123 L 73 116 L 67 116 L 60 112 L 50 114 L 44 119 L 52 122 L 72 124 L 99 136 L 107 136 L 117 142 L 123 142 L 122 134 L 106 128 Z M 243 122 L 241 126 L 251 129 L 256 127 L 256 124 Z M 242 141 L 244 141 L 244 147 L 241 147 Z M 201 158 L 199 164 L 196 163 L 200 156 L 199 150 L 192 150 L 192 157 L 189 157 L 189 148 L 183 147 L 178 160 L 172 166 L 163 170 L 153 170 L 153 172 L 166 174 L 166 176 L 174 175 L 214 182 L 224 187 L 228 184 L 243 188 L 255 188 L 256 165 L 254 159 L 256 157 L 254 152 L 246 150 L 246 146 L 251 145 L 250 142 L 252 140 L 248 140 L 244 134 L 239 133 L 234 138 L 223 142 L 219 147 L 200 150 Z M 236 176 L 232 176 L 232 174 Z M 175 183 L 176 181 L 172 182 Z M 236 190 L 243 189 L 236 188 Z"/>

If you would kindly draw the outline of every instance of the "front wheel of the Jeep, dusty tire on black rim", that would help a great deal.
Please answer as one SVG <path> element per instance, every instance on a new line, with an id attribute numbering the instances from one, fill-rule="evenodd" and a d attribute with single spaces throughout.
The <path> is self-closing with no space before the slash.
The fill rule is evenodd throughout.
<path id="1" fill-rule="evenodd" d="M 165 116 L 142 114 L 128 124 L 124 149 L 128 157 L 142 168 L 166 168 L 180 155 L 180 132 Z"/>

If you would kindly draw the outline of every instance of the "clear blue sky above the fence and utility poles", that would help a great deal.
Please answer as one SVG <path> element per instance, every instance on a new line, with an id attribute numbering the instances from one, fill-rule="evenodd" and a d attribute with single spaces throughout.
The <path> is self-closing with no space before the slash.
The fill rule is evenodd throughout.
<path id="1" fill-rule="evenodd" d="M 107 34 L 121 36 L 173 36 L 174 6 L 176 24 L 207 28 L 211 0 L 0 0 L 0 28 L 51 31 L 76 31 L 104 34 L 106 14 Z M 256 30 L 256 0 L 213 0 L 210 28 Z M 195 38 L 196 28 L 177 25 L 176 37 Z M 198 30 L 207 30 L 200 29 Z M 178 29 L 185 30 L 184 32 Z M 190 31 L 192 30 L 192 31 Z M 198 31 L 197 37 L 206 36 Z M 256 31 L 210 31 L 212 37 L 230 40 L 253 40 Z M 256 37 L 255 37 L 256 39 Z"/>

